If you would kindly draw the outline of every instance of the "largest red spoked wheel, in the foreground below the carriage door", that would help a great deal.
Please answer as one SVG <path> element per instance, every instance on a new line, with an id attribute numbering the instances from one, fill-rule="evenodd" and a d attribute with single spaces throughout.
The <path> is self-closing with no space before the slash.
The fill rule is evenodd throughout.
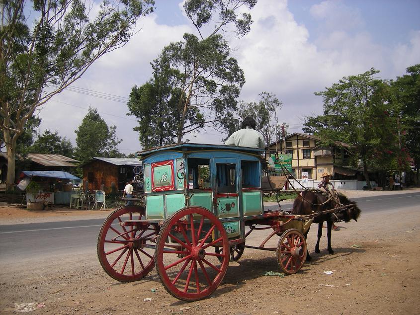
<path id="1" fill-rule="evenodd" d="M 216 245 L 219 253 L 210 248 Z M 212 294 L 222 282 L 229 252 L 220 220 L 205 208 L 185 207 L 168 218 L 159 234 L 156 268 L 171 295 L 197 301 Z"/>

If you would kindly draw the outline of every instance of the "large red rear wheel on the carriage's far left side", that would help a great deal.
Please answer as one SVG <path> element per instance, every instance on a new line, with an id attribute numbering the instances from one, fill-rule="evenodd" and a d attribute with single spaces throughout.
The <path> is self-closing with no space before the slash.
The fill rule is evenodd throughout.
<path id="1" fill-rule="evenodd" d="M 155 266 L 157 225 L 120 225 L 124 220 L 145 220 L 141 206 L 124 206 L 112 212 L 102 225 L 97 243 L 99 262 L 105 272 L 122 282 L 144 278 Z"/>

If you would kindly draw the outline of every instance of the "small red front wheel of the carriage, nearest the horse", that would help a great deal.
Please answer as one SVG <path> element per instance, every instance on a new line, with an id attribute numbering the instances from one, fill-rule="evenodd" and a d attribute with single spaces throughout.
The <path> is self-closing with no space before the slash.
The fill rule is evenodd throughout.
<path id="1" fill-rule="evenodd" d="M 305 236 L 296 229 L 283 233 L 277 244 L 277 262 L 285 274 L 298 272 L 306 260 Z"/>

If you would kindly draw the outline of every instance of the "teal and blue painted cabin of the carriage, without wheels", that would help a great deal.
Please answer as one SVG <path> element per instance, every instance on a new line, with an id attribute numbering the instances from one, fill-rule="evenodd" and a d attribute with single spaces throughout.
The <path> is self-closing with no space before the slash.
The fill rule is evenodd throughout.
<path id="1" fill-rule="evenodd" d="M 229 239 L 244 238 L 244 221 L 263 210 L 260 153 L 198 144 L 142 152 L 146 219 L 162 221 L 199 206 L 219 218 Z"/>

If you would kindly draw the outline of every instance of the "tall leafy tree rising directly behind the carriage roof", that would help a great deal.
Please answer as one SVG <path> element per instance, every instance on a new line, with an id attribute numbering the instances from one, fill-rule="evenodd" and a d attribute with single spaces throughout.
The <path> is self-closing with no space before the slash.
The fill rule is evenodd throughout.
<path id="1" fill-rule="evenodd" d="M 229 124 L 230 111 L 245 83 L 242 69 L 230 57 L 230 47 L 219 32 L 243 36 L 250 30 L 255 0 L 186 0 L 184 9 L 199 37 L 184 34 L 170 43 L 152 63 L 153 78 L 134 87 L 129 110 L 139 119 L 139 139 L 144 148 L 181 142 L 187 133 Z M 203 32 L 209 30 L 208 36 Z M 155 117 L 158 116 L 158 117 Z M 189 141 L 189 140 L 184 140 Z"/>

